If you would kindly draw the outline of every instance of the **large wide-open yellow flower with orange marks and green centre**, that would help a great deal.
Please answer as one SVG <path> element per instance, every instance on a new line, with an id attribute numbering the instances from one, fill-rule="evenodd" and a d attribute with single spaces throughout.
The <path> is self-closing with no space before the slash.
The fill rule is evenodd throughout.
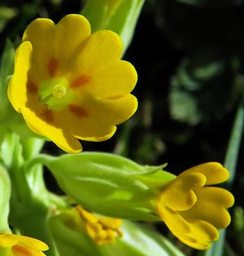
<path id="1" fill-rule="evenodd" d="M 57 25 L 36 19 L 15 52 L 8 87 L 13 108 L 27 125 L 66 152 L 82 150 L 79 140 L 111 138 L 116 125 L 135 113 L 130 94 L 137 72 L 119 60 L 122 43 L 112 31 L 90 35 L 82 15 L 66 15 Z"/>

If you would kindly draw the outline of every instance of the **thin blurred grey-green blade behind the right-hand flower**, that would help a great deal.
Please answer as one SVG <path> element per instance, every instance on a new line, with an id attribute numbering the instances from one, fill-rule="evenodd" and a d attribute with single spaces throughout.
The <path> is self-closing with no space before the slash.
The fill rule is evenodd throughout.
<path id="1" fill-rule="evenodd" d="M 243 133 L 244 124 L 244 107 L 243 104 L 237 109 L 236 117 L 234 119 L 233 129 L 229 138 L 227 152 L 225 154 L 224 166 L 229 170 L 230 177 L 225 183 L 226 188 L 230 189 L 233 185 L 234 176 L 236 173 L 236 163 L 238 161 L 238 153 L 240 149 L 241 136 Z M 225 244 L 225 230 L 220 230 L 220 237 L 217 242 L 213 243 L 209 250 L 206 250 L 204 256 L 222 256 L 224 253 Z M 202 254 L 201 254 L 202 255 Z"/>

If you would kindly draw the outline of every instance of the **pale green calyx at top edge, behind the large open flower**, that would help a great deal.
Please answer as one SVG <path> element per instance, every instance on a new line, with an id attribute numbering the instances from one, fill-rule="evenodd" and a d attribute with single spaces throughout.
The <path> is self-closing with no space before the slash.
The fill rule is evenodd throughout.
<path id="1" fill-rule="evenodd" d="M 133 37 L 145 0 L 87 0 L 82 14 L 91 23 L 92 32 L 109 29 L 121 37 L 123 52 Z"/>

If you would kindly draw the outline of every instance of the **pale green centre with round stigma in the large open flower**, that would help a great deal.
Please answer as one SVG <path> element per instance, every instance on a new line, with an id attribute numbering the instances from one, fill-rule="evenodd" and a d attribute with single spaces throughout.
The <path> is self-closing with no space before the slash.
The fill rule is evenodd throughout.
<path id="1" fill-rule="evenodd" d="M 73 90 L 69 88 L 68 80 L 65 77 L 44 81 L 38 94 L 40 101 L 52 110 L 64 109 L 73 101 Z"/>

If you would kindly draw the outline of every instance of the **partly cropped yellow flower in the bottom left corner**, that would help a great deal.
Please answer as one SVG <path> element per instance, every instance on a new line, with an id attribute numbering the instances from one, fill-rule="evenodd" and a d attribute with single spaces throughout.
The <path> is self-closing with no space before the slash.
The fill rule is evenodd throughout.
<path id="1" fill-rule="evenodd" d="M 0 234 L 0 248 L 9 248 L 13 256 L 45 256 L 49 246 L 37 239 L 14 234 Z"/>

